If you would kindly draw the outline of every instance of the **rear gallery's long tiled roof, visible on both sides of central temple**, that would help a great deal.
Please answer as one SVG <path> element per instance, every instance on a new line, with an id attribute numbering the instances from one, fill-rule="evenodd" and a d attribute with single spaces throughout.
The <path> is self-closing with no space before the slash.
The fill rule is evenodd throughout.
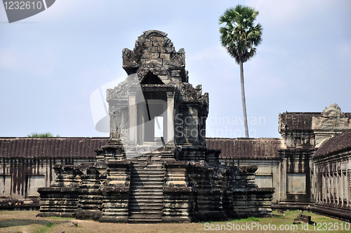
<path id="1" fill-rule="evenodd" d="M 95 158 L 93 149 L 109 138 L 0 138 L 0 157 Z M 277 159 L 278 138 L 206 138 L 208 149 L 221 149 L 221 158 Z"/>

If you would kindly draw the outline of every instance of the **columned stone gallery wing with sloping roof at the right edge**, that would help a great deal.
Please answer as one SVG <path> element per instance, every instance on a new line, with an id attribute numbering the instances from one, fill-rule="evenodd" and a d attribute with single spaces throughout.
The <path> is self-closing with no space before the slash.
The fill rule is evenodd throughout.
<path id="1" fill-rule="evenodd" d="M 351 219 L 351 131 L 324 142 L 314 154 L 316 198 L 312 211 Z"/>

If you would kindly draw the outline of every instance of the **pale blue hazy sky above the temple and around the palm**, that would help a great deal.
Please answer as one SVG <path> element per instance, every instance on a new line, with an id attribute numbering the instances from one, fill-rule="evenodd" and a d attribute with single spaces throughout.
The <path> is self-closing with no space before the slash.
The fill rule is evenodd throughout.
<path id="1" fill-rule="evenodd" d="M 58 0 L 8 23 L 0 6 L 0 136 L 107 136 L 90 96 L 126 76 L 123 48 L 148 29 L 185 48 L 193 86 L 209 93 L 208 137 L 244 136 L 239 66 L 221 48 L 218 18 L 236 4 L 260 11 L 263 42 L 244 63 L 250 136 L 280 137 L 279 112 L 351 112 L 351 1 Z"/>

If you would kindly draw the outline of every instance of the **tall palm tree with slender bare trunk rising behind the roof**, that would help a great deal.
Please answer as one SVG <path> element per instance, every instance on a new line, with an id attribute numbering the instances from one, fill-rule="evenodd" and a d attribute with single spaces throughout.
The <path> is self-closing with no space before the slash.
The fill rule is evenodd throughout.
<path id="1" fill-rule="evenodd" d="M 246 116 L 243 63 L 256 54 L 254 46 L 258 46 L 262 41 L 262 26 L 259 23 L 253 25 L 257 15 L 258 11 L 255 8 L 237 5 L 235 8 L 227 8 L 219 18 L 220 25 L 225 23 L 224 27 L 220 27 L 220 42 L 240 66 L 241 101 L 246 138 L 249 138 L 249 128 Z"/>

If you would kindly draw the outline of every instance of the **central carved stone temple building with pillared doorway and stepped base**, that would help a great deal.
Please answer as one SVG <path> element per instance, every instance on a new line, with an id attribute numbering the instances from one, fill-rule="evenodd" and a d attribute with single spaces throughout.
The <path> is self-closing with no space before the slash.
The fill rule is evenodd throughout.
<path id="1" fill-rule="evenodd" d="M 110 140 L 96 159 L 54 166 L 39 216 L 100 222 L 192 222 L 272 215 L 274 188 L 257 166 L 220 164 L 206 147 L 208 93 L 188 82 L 185 51 L 144 32 L 122 52 L 128 77 L 107 90 Z"/>

